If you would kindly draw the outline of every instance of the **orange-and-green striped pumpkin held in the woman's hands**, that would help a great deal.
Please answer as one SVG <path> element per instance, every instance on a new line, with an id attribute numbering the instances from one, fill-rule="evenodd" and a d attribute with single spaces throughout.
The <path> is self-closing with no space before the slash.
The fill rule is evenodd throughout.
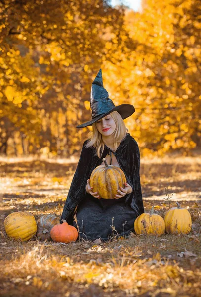
<path id="1" fill-rule="evenodd" d="M 108 165 L 103 158 L 105 166 L 97 166 L 91 173 L 90 186 L 93 187 L 93 192 L 98 192 L 103 199 L 114 199 L 118 193 L 117 190 L 126 183 L 124 172 L 121 168 L 113 165 Z"/>

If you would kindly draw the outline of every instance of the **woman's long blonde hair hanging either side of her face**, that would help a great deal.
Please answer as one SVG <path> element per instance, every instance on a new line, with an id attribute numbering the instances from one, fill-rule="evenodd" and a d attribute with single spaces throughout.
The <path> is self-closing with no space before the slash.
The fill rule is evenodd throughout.
<path id="1" fill-rule="evenodd" d="M 113 132 L 114 147 L 115 147 L 115 149 L 113 151 L 116 151 L 119 144 L 121 143 L 121 141 L 126 137 L 126 133 L 128 132 L 128 129 L 126 128 L 121 115 L 117 111 L 111 112 L 110 115 L 116 124 L 115 131 Z M 89 148 L 89 147 L 96 148 L 96 154 L 100 159 L 101 155 L 103 153 L 103 150 L 104 150 L 104 142 L 102 140 L 101 133 L 98 131 L 98 129 L 96 127 L 96 123 L 92 124 L 92 128 L 93 128 L 93 130 L 91 132 L 89 132 L 89 134 L 88 134 L 89 141 L 87 142 L 85 147 L 86 148 Z"/>

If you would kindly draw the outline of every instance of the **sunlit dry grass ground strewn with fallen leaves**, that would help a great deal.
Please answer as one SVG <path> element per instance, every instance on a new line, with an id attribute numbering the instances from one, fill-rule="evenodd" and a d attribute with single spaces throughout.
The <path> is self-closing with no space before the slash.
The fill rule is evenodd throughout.
<path id="1" fill-rule="evenodd" d="M 109 243 L 70 244 L 6 237 L 3 221 L 11 212 L 61 215 L 76 165 L 72 159 L 0 159 L 0 296 L 200 297 L 199 156 L 141 160 L 145 211 L 155 205 L 164 216 L 179 201 L 192 216 L 188 235 L 132 233 Z"/>

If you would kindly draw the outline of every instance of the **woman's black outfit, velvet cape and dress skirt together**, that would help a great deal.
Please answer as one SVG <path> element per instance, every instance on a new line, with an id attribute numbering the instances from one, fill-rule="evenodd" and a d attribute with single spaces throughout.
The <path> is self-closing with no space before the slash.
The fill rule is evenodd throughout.
<path id="1" fill-rule="evenodd" d="M 109 200 L 97 199 L 86 192 L 87 179 L 90 178 L 92 171 L 102 164 L 102 159 L 110 153 L 110 150 L 105 145 L 102 157 L 99 159 L 95 148 L 85 148 L 83 145 L 61 216 L 61 220 L 65 219 L 76 227 L 73 217 L 77 207 L 76 218 L 80 238 L 107 240 L 113 235 L 129 235 L 134 230 L 135 219 L 144 212 L 139 174 L 140 153 L 136 141 L 129 133 L 113 153 L 133 191 L 120 199 Z"/>

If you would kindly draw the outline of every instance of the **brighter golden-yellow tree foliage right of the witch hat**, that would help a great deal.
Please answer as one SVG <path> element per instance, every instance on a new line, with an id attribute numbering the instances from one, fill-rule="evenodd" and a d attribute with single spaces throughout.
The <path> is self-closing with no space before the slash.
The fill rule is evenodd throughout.
<path id="1" fill-rule="evenodd" d="M 133 50 L 130 43 L 129 56 L 119 52 L 118 64 L 104 63 L 106 88 L 118 103 L 124 99 L 135 106 L 125 123 L 145 154 L 147 149 L 188 151 L 199 144 L 201 135 L 201 35 L 193 26 L 199 21 L 200 4 L 144 3 L 142 13 L 125 13 Z"/>

